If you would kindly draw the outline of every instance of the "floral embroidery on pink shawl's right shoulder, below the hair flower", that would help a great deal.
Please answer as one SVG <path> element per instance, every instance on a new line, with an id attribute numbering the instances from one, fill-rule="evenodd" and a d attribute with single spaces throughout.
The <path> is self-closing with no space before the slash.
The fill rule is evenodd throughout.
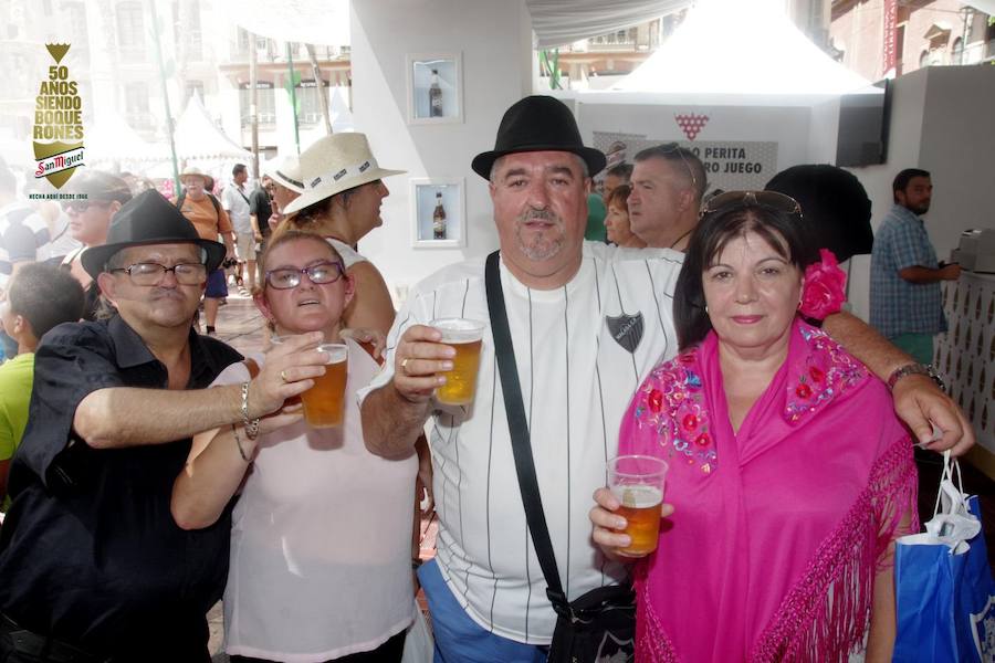
<path id="1" fill-rule="evenodd" d="M 867 377 L 863 365 L 825 332 L 807 325 L 798 325 L 797 329 L 808 352 L 788 368 L 784 418 L 790 422 L 820 410 Z"/>

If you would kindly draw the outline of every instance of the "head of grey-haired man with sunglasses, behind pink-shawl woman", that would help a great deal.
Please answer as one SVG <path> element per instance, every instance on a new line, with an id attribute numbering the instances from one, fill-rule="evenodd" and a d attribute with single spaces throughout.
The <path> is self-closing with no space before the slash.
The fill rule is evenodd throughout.
<path id="1" fill-rule="evenodd" d="M 677 143 L 648 147 L 635 161 L 628 201 L 632 232 L 647 246 L 683 251 L 708 187 L 704 166 Z"/>

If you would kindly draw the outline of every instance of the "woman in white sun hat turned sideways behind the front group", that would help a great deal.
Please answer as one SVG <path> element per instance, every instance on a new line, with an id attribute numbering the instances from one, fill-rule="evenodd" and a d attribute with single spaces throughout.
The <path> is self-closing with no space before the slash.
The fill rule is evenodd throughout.
<path id="1" fill-rule="evenodd" d="M 316 232 L 342 255 L 356 283 L 356 297 L 343 316 L 346 327 L 386 335 L 394 324 L 394 303 L 384 277 L 354 246 L 384 222 L 380 203 L 390 191 L 383 178 L 404 172 L 380 168 L 363 134 L 326 136 L 301 154 L 304 190 L 282 210 L 287 219 L 281 228 Z"/>

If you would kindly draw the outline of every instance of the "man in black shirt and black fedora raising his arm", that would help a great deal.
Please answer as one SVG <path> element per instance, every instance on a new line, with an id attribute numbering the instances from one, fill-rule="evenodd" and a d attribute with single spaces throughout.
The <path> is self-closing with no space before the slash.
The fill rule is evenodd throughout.
<path id="1" fill-rule="evenodd" d="M 323 372 L 307 350 L 321 339 L 300 336 L 251 381 L 206 390 L 240 359 L 191 327 L 223 256 L 155 191 L 84 252 L 116 315 L 55 327 L 38 348 L 0 530 L 0 660 L 210 660 L 205 614 L 223 589 L 231 522 L 181 530 L 172 483 L 193 434 L 284 424 L 298 417 L 284 399 Z"/>

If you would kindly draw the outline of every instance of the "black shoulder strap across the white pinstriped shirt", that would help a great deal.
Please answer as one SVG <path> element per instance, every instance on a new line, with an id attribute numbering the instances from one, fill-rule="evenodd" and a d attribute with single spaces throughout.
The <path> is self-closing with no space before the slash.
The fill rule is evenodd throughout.
<path id="1" fill-rule="evenodd" d="M 549 529 L 546 526 L 546 513 L 535 477 L 535 461 L 532 456 L 532 441 L 528 433 L 528 420 L 525 418 L 525 406 L 522 403 L 522 386 L 519 383 L 519 368 L 515 364 L 515 350 L 512 345 L 511 329 L 507 326 L 507 312 L 504 308 L 504 292 L 501 288 L 501 274 L 498 269 L 499 252 L 488 256 L 484 266 L 484 284 L 488 291 L 488 312 L 491 316 L 491 333 L 494 336 L 494 354 L 498 357 L 498 371 L 501 375 L 501 391 L 504 393 L 504 408 L 507 412 L 507 428 L 511 432 L 512 451 L 515 456 L 515 471 L 519 474 L 519 490 L 522 492 L 522 504 L 525 506 L 525 519 L 532 535 L 532 544 L 538 557 L 543 576 L 546 578 L 546 594 L 557 609 L 567 604 L 556 568 L 556 555 Z"/>

